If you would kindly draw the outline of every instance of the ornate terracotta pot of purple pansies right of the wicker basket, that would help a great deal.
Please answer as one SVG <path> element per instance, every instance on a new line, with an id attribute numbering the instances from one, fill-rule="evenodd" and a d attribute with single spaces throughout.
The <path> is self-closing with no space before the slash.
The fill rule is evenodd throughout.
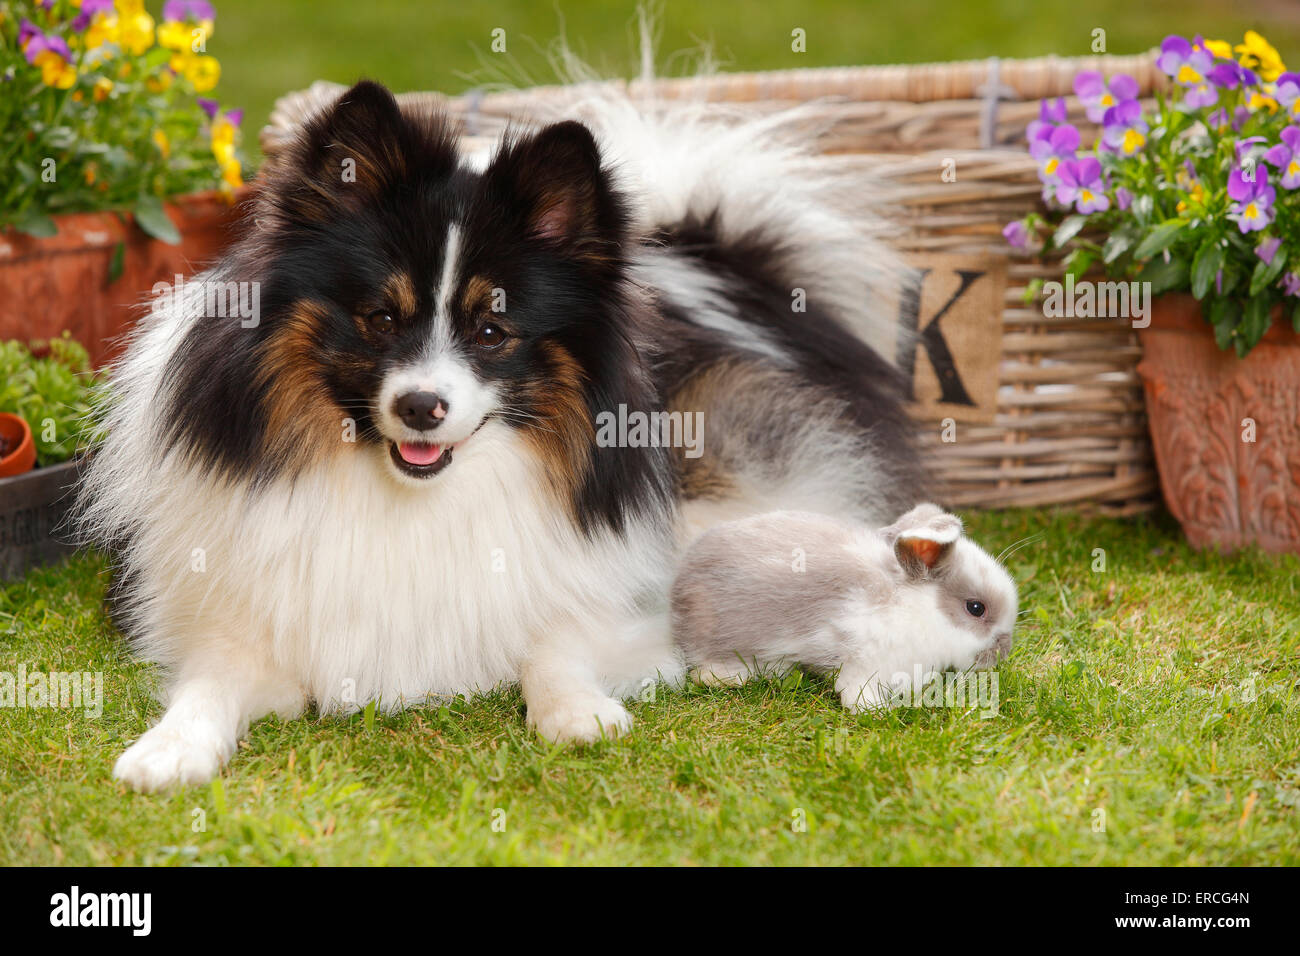
<path id="1" fill-rule="evenodd" d="M 1164 295 L 1138 372 L 1165 502 L 1188 541 L 1300 553 L 1300 336 L 1282 310 L 1244 358 L 1191 295 Z"/>

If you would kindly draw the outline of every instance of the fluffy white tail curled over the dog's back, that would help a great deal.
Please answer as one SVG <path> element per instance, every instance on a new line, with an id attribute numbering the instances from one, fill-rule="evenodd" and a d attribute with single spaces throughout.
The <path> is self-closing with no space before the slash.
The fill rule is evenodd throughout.
<path id="1" fill-rule="evenodd" d="M 645 49 L 649 27 L 642 23 Z M 887 360 L 897 346 L 893 303 L 909 269 L 887 242 L 884 190 L 861 163 L 810 148 L 815 105 L 755 112 L 702 98 L 658 98 L 651 57 L 630 86 L 577 82 L 554 118 L 595 133 L 633 199 L 644 235 L 707 224 L 722 247 L 777 252 L 783 280 L 815 290 L 818 304 Z M 568 78 L 589 81 L 562 53 Z M 552 118 L 552 117 L 545 117 Z"/>

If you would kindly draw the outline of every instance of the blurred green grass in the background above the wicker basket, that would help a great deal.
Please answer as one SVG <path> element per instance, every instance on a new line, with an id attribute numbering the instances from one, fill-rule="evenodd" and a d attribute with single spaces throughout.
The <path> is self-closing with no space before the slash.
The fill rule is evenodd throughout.
<path id="1" fill-rule="evenodd" d="M 151 0 L 151 7 L 155 5 Z M 462 92 L 504 70 L 517 83 L 554 82 L 546 51 L 562 33 L 610 75 L 636 64 L 633 0 L 217 0 L 211 52 L 222 64 L 217 95 L 247 108 L 250 147 L 276 98 L 316 79 L 380 79 L 395 90 Z M 659 62 L 681 73 L 703 46 L 725 70 L 927 62 L 988 56 L 1138 53 L 1170 33 L 1240 42 L 1257 29 L 1300 61 L 1300 7 L 1291 0 L 664 0 Z M 491 31 L 506 31 L 506 52 Z M 806 31 L 794 52 L 790 31 Z M 684 53 L 686 56 L 684 56 Z M 1292 65 L 1295 65 L 1292 62 Z"/>

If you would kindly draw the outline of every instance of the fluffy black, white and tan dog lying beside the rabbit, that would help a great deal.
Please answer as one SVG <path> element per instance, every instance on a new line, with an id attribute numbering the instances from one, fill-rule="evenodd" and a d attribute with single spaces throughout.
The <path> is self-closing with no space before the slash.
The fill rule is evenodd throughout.
<path id="1" fill-rule="evenodd" d="M 922 493 L 861 179 L 783 120 L 571 113 L 463 155 L 360 82 L 131 333 L 79 507 L 165 674 L 129 787 L 208 780 L 270 713 L 508 684 L 542 737 L 615 737 L 682 676 L 703 529 Z M 255 320 L 213 315 L 240 284 Z"/>

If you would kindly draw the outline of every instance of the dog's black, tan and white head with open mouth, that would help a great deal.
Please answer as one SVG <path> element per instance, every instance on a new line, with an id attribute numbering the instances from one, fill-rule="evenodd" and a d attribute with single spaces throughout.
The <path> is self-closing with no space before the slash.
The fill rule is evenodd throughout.
<path id="1" fill-rule="evenodd" d="M 260 280 L 260 321 L 222 329 L 235 358 L 194 343 L 182 358 L 247 380 L 259 441 L 217 434 L 218 450 L 260 470 L 370 454 L 433 488 L 499 421 L 558 486 L 601 483 L 594 414 L 651 397 L 629 334 L 629 216 L 585 126 L 508 135 L 471 169 L 445 117 L 363 82 L 264 179 L 251 235 L 218 271 Z"/>

